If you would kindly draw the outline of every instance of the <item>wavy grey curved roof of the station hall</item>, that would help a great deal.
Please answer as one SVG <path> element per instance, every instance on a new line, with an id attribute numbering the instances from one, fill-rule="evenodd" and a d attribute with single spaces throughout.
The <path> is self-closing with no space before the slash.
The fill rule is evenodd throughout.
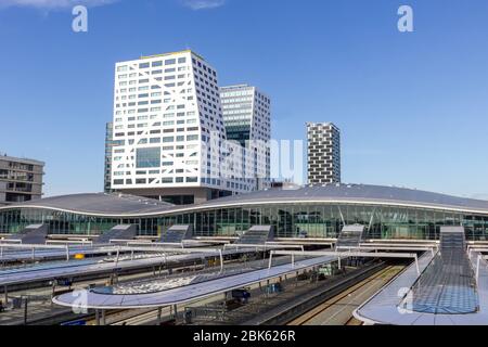
<path id="1" fill-rule="evenodd" d="M 15 208 L 43 208 L 90 216 L 150 217 L 220 207 L 274 203 L 388 205 L 488 215 L 488 201 L 457 197 L 406 188 L 367 184 L 326 184 L 300 187 L 297 189 L 270 189 L 185 206 L 175 206 L 155 200 L 124 194 L 76 194 L 4 206 L 0 207 L 0 211 Z"/>

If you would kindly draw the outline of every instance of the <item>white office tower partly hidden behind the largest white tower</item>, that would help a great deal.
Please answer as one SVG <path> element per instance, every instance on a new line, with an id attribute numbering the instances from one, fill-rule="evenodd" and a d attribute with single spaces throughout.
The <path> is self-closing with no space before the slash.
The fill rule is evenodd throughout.
<path id="1" fill-rule="evenodd" d="M 227 138 L 243 149 L 245 184 L 261 190 L 270 184 L 271 100 L 247 85 L 220 88 Z M 234 182 L 233 182 L 234 183 Z M 237 182 L 235 182 L 237 184 Z"/>

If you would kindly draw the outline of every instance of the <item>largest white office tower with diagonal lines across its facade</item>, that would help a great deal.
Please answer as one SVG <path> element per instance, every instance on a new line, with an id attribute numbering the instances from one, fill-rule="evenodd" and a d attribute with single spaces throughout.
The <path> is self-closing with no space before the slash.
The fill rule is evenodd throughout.
<path id="1" fill-rule="evenodd" d="M 144 56 L 115 74 L 114 190 L 175 204 L 247 191 L 229 188 L 217 72 L 202 56 Z"/>

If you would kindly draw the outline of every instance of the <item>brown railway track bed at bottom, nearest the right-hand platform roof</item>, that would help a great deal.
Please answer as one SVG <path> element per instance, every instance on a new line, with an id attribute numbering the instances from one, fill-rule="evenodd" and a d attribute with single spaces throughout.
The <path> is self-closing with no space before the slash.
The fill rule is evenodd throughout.
<path id="1" fill-rule="evenodd" d="M 401 271 L 400 266 L 388 266 L 372 277 L 352 285 L 343 293 L 314 307 L 312 310 L 288 322 L 287 325 L 361 325 L 351 312 L 364 299 L 374 294 Z M 372 292 L 371 294 L 369 292 Z M 368 297 L 361 299 L 361 295 Z M 358 301 L 359 299 L 359 301 Z M 355 303 L 357 301 L 357 303 Z"/>

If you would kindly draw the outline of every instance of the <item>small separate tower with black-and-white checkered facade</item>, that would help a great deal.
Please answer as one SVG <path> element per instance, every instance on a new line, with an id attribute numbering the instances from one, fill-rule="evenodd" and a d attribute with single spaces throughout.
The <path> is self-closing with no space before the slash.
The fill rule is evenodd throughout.
<path id="1" fill-rule="evenodd" d="M 307 123 L 308 183 L 341 183 L 341 130 L 332 123 Z"/>

